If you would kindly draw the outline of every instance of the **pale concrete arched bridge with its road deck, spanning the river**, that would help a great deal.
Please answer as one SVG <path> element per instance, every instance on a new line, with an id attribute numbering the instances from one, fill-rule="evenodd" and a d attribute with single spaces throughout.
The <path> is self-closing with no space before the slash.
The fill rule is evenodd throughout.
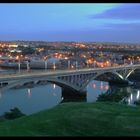
<path id="1" fill-rule="evenodd" d="M 16 85 L 22 86 L 29 82 L 36 84 L 39 81 L 48 81 L 76 92 L 84 92 L 88 83 L 101 75 L 108 73 L 114 75 L 114 77 L 117 76 L 120 80 L 126 81 L 134 70 L 139 68 L 140 64 L 136 64 L 106 68 L 83 68 L 75 70 L 52 70 L 5 74 L 0 75 L 0 87 L 3 90 L 6 90 Z"/>

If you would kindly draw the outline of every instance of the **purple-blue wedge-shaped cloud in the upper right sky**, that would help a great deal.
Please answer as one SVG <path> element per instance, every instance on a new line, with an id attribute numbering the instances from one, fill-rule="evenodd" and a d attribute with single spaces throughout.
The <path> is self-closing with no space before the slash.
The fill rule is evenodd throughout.
<path id="1" fill-rule="evenodd" d="M 123 4 L 121 6 L 106 10 L 103 13 L 91 15 L 90 18 L 140 20 L 140 4 Z"/>

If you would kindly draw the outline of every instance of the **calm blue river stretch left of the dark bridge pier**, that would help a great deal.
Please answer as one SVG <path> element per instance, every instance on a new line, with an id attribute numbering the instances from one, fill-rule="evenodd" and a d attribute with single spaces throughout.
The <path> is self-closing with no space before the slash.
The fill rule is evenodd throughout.
<path id="1" fill-rule="evenodd" d="M 1 94 L 3 97 L 0 99 L 0 115 L 14 107 L 27 115 L 52 108 L 61 102 L 61 92 L 61 88 L 53 84 L 9 89 Z"/>

